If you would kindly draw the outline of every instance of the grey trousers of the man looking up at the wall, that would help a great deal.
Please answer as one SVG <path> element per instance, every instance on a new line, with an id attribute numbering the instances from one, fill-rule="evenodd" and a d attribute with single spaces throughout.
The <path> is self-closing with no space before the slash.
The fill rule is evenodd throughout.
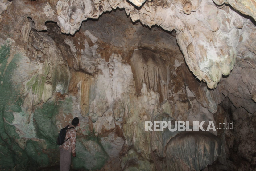
<path id="1" fill-rule="evenodd" d="M 60 148 L 60 171 L 69 171 L 71 163 L 71 152 Z"/>

